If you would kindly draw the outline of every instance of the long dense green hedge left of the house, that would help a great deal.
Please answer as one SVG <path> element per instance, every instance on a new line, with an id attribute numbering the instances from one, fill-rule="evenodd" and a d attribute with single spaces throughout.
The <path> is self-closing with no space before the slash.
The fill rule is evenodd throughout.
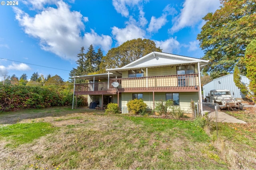
<path id="1" fill-rule="evenodd" d="M 0 111 L 72 105 L 73 90 L 0 84 Z"/>

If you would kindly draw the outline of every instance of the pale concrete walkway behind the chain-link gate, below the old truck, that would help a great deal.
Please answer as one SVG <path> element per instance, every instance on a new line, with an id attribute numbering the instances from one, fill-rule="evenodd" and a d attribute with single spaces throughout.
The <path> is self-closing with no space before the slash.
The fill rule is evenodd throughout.
<path id="1" fill-rule="evenodd" d="M 214 119 L 216 121 L 216 113 L 215 111 L 208 114 L 209 117 Z M 236 119 L 233 116 L 228 115 L 227 113 L 224 113 L 222 111 L 218 111 L 218 122 L 227 122 L 227 123 L 246 123 L 245 121 L 242 121 L 240 119 Z"/>

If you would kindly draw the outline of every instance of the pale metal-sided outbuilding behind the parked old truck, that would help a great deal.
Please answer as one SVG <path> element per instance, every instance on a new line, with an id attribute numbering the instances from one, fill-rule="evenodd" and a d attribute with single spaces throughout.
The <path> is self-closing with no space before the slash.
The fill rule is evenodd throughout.
<path id="1" fill-rule="evenodd" d="M 250 80 L 246 76 L 240 76 L 241 82 L 245 85 L 248 85 Z M 228 74 L 226 76 L 222 76 L 219 78 L 215 78 L 214 80 L 208 82 L 207 84 L 203 85 L 203 94 L 204 98 L 208 96 L 210 90 L 214 89 L 227 89 L 230 90 L 232 96 L 234 98 L 245 98 L 244 94 L 240 92 L 238 87 L 234 82 L 233 74 Z"/>

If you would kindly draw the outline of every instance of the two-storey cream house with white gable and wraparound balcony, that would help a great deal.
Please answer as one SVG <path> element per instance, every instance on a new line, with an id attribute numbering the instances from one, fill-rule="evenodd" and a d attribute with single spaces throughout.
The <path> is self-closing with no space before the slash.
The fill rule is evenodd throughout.
<path id="1" fill-rule="evenodd" d="M 117 103 L 128 113 L 127 103 L 142 98 L 150 109 L 155 102 L 173 99 L 174 104 L 190 112 L 190 102 L 201 101 L 200 71 L 207 60 L 168 53 L 152 52 L 121 68 L 107 73 L 74 76 L 88 84 L 74 82 L 74 95 L 88 95 L 88 103 L 98 102 L 103 108 Z M 102 105 L 103 104 L 103 105 Z"/>

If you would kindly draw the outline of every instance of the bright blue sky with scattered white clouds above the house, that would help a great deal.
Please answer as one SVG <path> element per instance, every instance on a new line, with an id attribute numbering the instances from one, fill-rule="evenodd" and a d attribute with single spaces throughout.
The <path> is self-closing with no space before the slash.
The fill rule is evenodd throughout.
<path id="1" fill-rule="evenodd" d="M 153 40 L 164 53 L 201 58 L 196 37 L 202 18 L 220 7 L 219 0 L 17 2 L 0 6 L 0 81 L 23 73 L 30 79 L 34 72 L 66 81 L 82 46 L 87 51 L 92 44 L 106 55 L 136 38 Z"/>

